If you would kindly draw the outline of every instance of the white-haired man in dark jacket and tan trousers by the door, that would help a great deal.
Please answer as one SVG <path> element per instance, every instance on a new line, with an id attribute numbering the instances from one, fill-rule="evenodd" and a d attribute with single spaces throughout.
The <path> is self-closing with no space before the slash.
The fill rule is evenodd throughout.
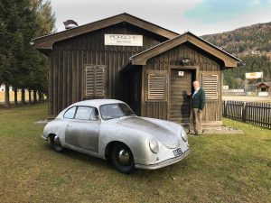
<path id="1" fill-rule="evenodd" d="M 190 95 L 191 97 L 191 115 L 190 115 L 190 126 L 189 133 L 194 132 L 197 135 L 202 134 L 201 126 L 201 116 L 202 110 L 205 106 L 205 93 L 202 88 L 200 88 L 200 83 L 198 81 L 193 81 L 192 83 L 194 91 Z"/>

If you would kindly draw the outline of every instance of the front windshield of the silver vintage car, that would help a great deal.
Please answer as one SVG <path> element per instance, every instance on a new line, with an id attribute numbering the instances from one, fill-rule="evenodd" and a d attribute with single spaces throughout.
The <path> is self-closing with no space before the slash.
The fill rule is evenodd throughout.
<path id="1" fill-rule="evenodd" d="M 109 104 L 99 107 L 100 115 L 104 120 L 119 118 L 122 116 L 134 116 L 135 113 L 125 103 Z"/>

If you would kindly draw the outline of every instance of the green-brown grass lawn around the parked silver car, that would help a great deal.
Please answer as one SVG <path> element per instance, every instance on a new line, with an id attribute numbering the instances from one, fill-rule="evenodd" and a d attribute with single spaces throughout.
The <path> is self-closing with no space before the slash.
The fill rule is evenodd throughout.
<path id="1" fill-rule="evenodd" d="M 118 173 L 107 161 L 42 140 L 46 104 L 0 109 L 0 202 L 271 202 L 271 130 L 190 137 L 184 161 Z"/>

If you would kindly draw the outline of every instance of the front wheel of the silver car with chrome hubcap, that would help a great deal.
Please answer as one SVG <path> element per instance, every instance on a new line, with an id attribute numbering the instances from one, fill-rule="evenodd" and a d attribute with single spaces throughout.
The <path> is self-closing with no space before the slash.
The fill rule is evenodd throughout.
<path id="1" fill-rule="evenodd" d="M 134 171 L 134 156 L 124 143 L 116 143 L 112 147 L 111 161 L 117 171 L 130 174 Z"/>

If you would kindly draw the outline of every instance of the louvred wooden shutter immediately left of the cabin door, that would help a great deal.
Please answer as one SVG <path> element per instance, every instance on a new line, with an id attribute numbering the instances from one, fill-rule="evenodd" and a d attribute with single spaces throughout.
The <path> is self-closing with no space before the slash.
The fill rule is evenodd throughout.
<path id="1" fill-rule="evenodd" d="M 166 99 L 166 75 L 148 73 L 147 87 L 148 100 Z"/>

